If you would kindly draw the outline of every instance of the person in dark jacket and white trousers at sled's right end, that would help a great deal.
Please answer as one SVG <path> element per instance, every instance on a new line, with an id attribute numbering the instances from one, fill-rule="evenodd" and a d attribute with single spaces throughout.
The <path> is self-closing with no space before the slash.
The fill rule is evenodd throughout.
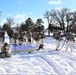
<path id="1" fill-rule="evenodd" d="M 34 31 L 32 33 L 32 38 L 36 42 L 36 47 L 37 50 L 43 49 L 43 39 L 44 39 L 44 31 L 43 31 L 43 26 L 37 26 L 34 28 Z"/>

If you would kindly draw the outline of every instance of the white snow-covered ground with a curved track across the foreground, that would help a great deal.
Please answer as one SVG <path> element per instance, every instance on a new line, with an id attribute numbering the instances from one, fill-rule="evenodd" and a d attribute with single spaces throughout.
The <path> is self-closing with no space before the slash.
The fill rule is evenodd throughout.
<path id="1" fill-rule="evenodd" d="M 61 47 L 63 43 L 64 40 L 61 41 Z M 0 74 L 75 75 L 76 42 L 73 52 L 65 51 L 66 43 L 60 51 L 54 51 L 55 45 L 52 37 L 46 37 L 43 50 L 11 53 L 10 58 L 0 58 Z"/>

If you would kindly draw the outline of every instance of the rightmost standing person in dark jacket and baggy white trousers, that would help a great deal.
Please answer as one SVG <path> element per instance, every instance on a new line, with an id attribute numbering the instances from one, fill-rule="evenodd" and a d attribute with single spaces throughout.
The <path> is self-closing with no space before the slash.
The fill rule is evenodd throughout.
<path id="1" fill-rule="evenodd" d="M 66 51 L 70 48 L 71 52 L 73 51 L 73 43 L 75 39 L 71 33 L 66 34 Z"/>

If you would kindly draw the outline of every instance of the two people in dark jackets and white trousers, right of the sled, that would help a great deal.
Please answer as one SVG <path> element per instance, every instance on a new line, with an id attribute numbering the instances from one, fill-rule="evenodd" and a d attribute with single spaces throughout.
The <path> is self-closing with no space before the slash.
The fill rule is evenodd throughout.
<path id="1" fill-rule="evenodd" d="M 60 41 L 63 40 L 61 32 L 55 32 L 53 34 L 53 38 L 56 40 L 56 50 L 60 50 Z M 66 42 L 66 52 L 68 49 L 73 51 L 73 43 L 75 42 L 75 37 L 72 35 L 71 32 L 66 32 L 65 34 L 65 40 L 64 43 Z M 63 43 L 63 45 L 64 45 Z"/>

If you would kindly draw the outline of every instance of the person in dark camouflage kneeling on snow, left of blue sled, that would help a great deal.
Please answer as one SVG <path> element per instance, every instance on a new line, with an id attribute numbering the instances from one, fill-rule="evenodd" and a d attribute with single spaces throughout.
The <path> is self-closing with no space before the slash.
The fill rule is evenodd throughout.
<path id="1" fill-rule="evenodd" d="M 4 45 L 1 48 L 0 58 L 7 58 L 11 57 L 11 54 L 9 54 L 9 46 L 7 43 L 4 43 Z"/>

